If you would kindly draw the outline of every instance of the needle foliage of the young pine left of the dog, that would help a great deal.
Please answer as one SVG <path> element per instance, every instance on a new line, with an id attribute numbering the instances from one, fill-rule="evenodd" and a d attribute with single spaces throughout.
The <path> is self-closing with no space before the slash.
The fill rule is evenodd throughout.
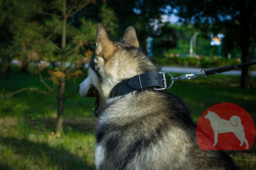
<path id="1" fill-rule="evenodd" d="M 88 4 L 89 1 L 71 1 L 67 2 L 66 15 L 72 15 L 76 10 Z M 23 63 L 38 61 L 46 61 L 51 64 L 53 70 L 57 66 L 57 62 L 70 62 L 68 76 L 77 73 L 76 69 L 80 69 L 84 62 L 90 60 L 91 51 L 93 51 L 96 37 L 96 29 L 98 21 L 95 18 L 69 17 L 67 21 L 67 37 L 65 49 L 62 48 L 62 31 L 63 31 L 63 1 L 53 1 L 51 3 L 45 1 L 7 1 L 1 2 L 0 10 L 4 14 L 1 19 L 10 21 L 6 28 L 11 33 L 12 40 L 8 48 L 3 46 L 3 52 L 6 56 L 14 59 L 22 60 Z M 11 12 L 12 11 L 12 12 Z M 54 11 L 54 12 L 53 12 Z M 117 17 L 114 11 L 102 5 L 100 20 L 106 26 L 111 34 L 115 33 L 117 27 Z M 1 22 L 2 23 L 2 22 Z M 3 24 L 3 23 L 2 23 Z M 1 46 L 0 46 L 1 49 Z M 89 51 L 89 53 L 87 53 Z M 37 72 L 36 64 L 28 64 L 29 71 Z M 64 70 L 59 70 L 64 71 Z M 66 70 L 67 71 L 67 70 Z M 51 75 L 51 80 L 58 77 Z M 72 78 L 75 78 L 72 76 Z"/>

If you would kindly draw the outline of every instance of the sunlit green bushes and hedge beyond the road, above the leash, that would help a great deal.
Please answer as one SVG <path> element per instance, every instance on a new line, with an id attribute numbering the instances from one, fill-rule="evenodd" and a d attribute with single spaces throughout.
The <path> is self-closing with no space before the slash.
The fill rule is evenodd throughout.
<path id="1" fill-rule="evenodd" d="M 191 58 L 189 56 L 190 38 L 193 36 L 195 29 L 192 27 L 186 27 L 184 25 L 169 25 L 174 29 L 177 37 L 177 46 L 163 51 L 163 48 L 159 46 L 164 55 L 159 55 L 156 51 L 153 51 L 153 58 L 158 65 L 179 65 L 188 67 L 218 67 L 234 63 L 239 63 L 237 58 L 241 58 L 241 51 L 236 48 L 231 52 L 232 60 L 228 60 L 226 56 L 221 59 L 217 59 L 219 46 L 210 45 L 210 38 L 205 39 L 200 33 L 196 39 L 196 48 L 193 47 L 193 52 L 200 58 Z M 210 57 L 208 57 L 210 56 Z"/>

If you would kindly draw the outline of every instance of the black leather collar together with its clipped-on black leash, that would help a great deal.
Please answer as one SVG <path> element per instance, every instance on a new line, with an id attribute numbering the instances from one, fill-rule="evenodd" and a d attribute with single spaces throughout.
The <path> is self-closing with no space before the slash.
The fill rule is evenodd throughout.
<path id="1" fill-rule="evenodd" d="M 124 95 L 133 91 L 142 91 L 146 89 L 168 90 L 170 87 L 172 87 L 174 81 L 176 80 L 194 79 L 200 75 L 202 77 L 207 77 L 209 75 L 215 75 L 251 65 L 256 65 L 256 61 L 243 64 L 233 64 L 214 69 L 202 69 L 200 73 L 185 74 L 176 78 L 174 78 L 173 75 L 169 72 L 146 72 L 144 74 L 134 76 L 130 79 L 125 79 L 115 85 L 111 90 L 111 97 L 113 98 L 115 96 Z M 168 74 L 170 76 L 170 81 L 172 81 L 168 87 L 166 86 L 165 74 Z"/>

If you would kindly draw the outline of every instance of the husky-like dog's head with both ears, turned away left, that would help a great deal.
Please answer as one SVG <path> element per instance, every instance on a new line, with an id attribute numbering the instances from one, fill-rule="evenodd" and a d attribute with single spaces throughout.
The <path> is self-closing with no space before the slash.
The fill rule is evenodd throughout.
<path id="1" fill-rule="evenodd" d="M 156 68 L 139 48 L 133 27 L 126 29 L 121 41 L 112 41 L 99 23 L 96 50 L 89 63 L 88 77 L 79 85 L 79 93 L 83 97 L 97 96 L 96 103 L 100 106 L 121 80 L 152 71 Z"/>

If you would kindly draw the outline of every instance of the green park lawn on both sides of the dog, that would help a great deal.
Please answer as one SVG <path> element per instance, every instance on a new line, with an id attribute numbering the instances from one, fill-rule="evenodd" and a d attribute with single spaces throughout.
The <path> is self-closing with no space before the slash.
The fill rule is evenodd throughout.
<path id="1" fill-rule="evenodd" d="M 85 77 L 86 74 L 76 83 L 70 82 L 67 93 L 75 91 Z M 207 108 L 221 102 L 242 106 L 255 122 L 256 79 L 253 78 L 253 89 L 240 88 L 239 82 L 237 76 L 216 75 L 177 81 L 168 92 L 186 103 L 195 122 Z M 24 87 L 46 90 L 37 75 L 23 74 L 17 68 L 12 70 L 10 80 L 0 74 L 1 93 Z M 55 98 L 29 91 L 17 93 L 12 98 L 0 98 L 0 169 L 95 169 L 94 102 L 95 99 L 83 99 L 79 94 L 67 99 L 65 128 L 59 135 L 54 133 Z M 255 148 L 254 144 L 253 153 Z"/>

